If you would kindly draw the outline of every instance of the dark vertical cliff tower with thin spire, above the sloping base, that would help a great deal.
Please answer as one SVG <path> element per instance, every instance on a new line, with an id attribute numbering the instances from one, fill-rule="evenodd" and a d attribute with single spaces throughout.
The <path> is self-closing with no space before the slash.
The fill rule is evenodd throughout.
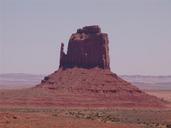
<path id="1" fill-rule="evenodd" d="M 108 35 L 101 33 L 99 26 L 86 26 L 72 34 L 67 54 L 61 44 L 60 68 L 94 68 L 110 69 Z"/>

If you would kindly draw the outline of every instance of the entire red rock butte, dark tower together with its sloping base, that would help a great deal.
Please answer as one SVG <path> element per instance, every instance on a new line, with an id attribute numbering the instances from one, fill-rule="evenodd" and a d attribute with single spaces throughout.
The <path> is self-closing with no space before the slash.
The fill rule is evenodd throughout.
<path id="1" fill-rule="evenodd" d="M 163 106 L 160 99 L 110 71 L 108 44 L 108 35 L 99 26 L 78 29 L 70 37 L 67 53 L 61 44 L 59 69 L 36 87 L 59 92 L 58 101 L 68 107 Z"/>

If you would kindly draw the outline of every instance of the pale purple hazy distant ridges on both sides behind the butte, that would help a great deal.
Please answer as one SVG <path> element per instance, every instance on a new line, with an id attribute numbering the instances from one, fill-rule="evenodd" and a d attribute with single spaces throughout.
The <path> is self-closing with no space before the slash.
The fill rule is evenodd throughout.
<path id="1" fill-rule="evenodd" d="M 14 86 L 24 87 L 40 83 L 45 74 L 29 73 L 4 73 L 0 74 L 0 88 L 13 88 Z M 144 90 L 171 90 L 171 75 L 151 76 L 151 75 L 119 75 L 140 89 Z"/>

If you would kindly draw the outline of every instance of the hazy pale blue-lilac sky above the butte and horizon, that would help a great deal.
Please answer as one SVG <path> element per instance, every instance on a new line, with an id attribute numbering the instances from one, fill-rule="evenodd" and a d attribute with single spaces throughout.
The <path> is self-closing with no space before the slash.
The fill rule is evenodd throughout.
<path id="1" fill-rule="evenodd" d="M 0 0 L 0 73 L 52 73 L 60 43 L 95 24 L 113 72 L 171 75 L 171 0 Z"/>

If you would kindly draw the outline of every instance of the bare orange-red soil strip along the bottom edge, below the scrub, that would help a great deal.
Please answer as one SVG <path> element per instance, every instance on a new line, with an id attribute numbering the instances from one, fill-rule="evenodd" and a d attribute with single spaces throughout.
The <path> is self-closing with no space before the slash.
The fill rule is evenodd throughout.
<path id="1" fill-rule="evenodd" d="M 104 123 L 95 120 L 78 119 L 35 113 L 0 113 L 0 128 L 140 128 L 135 124 Z"/>

